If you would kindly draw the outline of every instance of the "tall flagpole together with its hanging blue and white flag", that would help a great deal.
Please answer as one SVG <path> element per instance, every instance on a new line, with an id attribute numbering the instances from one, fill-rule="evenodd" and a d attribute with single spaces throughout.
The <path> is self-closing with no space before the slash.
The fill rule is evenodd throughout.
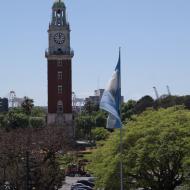
<path id="1" fill-rule="evenodd" d="M 121 48 L 119 48 L 119 59 L 112 79 L 109 81 L 107 89 L 105 89 L 101 101 L 100 109 L 109 113 L 107 119 L 107 128 L 120 128 L 120 147 L 119 167 L 120 170 L 120 190 L 123 190 L 123 140 L 122 140 L 122 123 L 121 123 Z M 117 83 L 115 83 L 117 82 Z M 114 122 L 113 122 L 114 121 Z M 119 169 L 120 168 L 120 169 Z M 119 174 L 119 172 L 118 172 Z"/>

